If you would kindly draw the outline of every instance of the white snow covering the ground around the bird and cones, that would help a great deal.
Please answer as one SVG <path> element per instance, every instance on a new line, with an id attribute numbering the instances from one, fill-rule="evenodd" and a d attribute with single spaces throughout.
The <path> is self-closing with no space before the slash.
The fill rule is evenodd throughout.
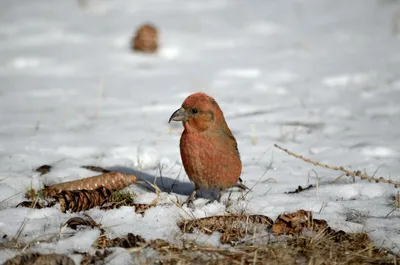
<path id="1" fill-rule="evenodd" d="M 157 56 L 129 50 L 134 29 L 147 21 L 161 33 Z M 386 217 L 396 189 L 346 177 L 333 184 L 338 173 L 273 147 L 400 180 L 399 47 L 395 0 L 3 0 L 0 242 L 14 237 L 25 218 L 22 242 L 58 234 L 80 216 L 13 206 L 31 185 L 94 175 L 80 168 L 87 164 L 140 172 L 150 181 L 161 165 L 167 190 L 177 179 L 143 217 L 128 207 L 88 211 L 113 237 L 132 232 L 174 243 L 186 236 L 175 225 L 180 218 L 223 214 L 223 204 L 204 199 L 195 209 L 173 203 L 193 186 L 180 164 L 182 127 L 167 121 L 187 95 L 204 91 L 219 102 L 238 140 L 243 180 L 255 185 L 236 210 L 273 219 L 311 210 L 334 229 L 367 231 L 377 245 L 400 252 L 400 211 Z M 33 170 L 43 164 L 54 169 L 39 176 Z M 318 193 L 285 194 L 315 184 L 316 174 Z M 139 202 L 155 197 L 130 189 Z M 93 251 L 98 233 L 31 249 Z M 110 264 L 129 263 L 124 251 Z M 0 262 L 17 253 L 0 250 Z"/>

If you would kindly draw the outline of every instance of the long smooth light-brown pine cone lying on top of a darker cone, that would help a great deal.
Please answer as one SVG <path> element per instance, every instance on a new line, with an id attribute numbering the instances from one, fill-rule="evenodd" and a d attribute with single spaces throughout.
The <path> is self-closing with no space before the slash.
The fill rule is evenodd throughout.
<path id="1" fill-rule="evenodd" d="M 68 181 L 53 186 L 45 187 L 43 195 L 45 197 L 54 197 L 61 191 L 66 190 L 95 190 L 99 187 L 105 187 L 109 190 L 119 190 L 135 183 L 137 177 L 131 174 L 122 174 L 120 172 L 109 172 L 98 176 Z"/>

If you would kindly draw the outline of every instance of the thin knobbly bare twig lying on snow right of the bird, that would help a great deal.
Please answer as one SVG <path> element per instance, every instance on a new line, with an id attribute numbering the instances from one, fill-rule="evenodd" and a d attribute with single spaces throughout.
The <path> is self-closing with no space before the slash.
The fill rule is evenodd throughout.
<path id="1" fill-rule="evenodd" d="M 367 179 L 369 181 L 375 181 L 377 183 L 378 182 L 389 183 L 389 184 L 394 185 L 396 188 L 400 186 L 400 181 L 393 181 L 391 179 L 384 179 L 383 177 L 380 177 L 380 178 L 370 177 L 370 176 L 368 176 L 366 174 L 361 173 L 361 171 L 359 171 L 359 170 L 358 171 L 350 171 L 348 169 L 345 169 L 344 167 L 330 166 L 330 165 L 327 165 L 327 164 L 323 164 L 323 163 L 320 163 L 320 162 L 313 161 L 313 160 L 311 160 L 309 158 L 306 158 L 304 156 L 295 154 L 295 153 L 293 153 L 293 152 L 291 152 L 291 151 L 289 151 L 289 150 L 287 150 L 287 149 L 285 149 L 283 147 L 280 147 L 277 144 L 275 144 L 274 146 L 276 148 L 288 153 L 289 155 L 294 156 L 294 157 L 296 157 L 298 159 L 301 159 L 304 162 L 313 164 L 314 166 L 320 166 L 320 167 L 324 167 L 324 168 L 327 168 L 327 169 L 332 169 L 332 170 L 335 170 L 335 171 L 341 171 L 341 172 L 344 172 L 346 174 L 346 176 L 359 177 L 361 179 Z"/>

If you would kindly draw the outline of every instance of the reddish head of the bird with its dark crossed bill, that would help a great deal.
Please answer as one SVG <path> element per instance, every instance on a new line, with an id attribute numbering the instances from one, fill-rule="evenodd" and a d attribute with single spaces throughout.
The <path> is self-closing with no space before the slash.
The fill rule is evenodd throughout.
<path id="1" fill-rule="evenodd" d="M 171 115 L 171 121 L 183 122 L 185 129 L 192 132 L 203 132 L 226 124 L 217 102 L 201 92 L 188 96 L 182 107 Z"/>

